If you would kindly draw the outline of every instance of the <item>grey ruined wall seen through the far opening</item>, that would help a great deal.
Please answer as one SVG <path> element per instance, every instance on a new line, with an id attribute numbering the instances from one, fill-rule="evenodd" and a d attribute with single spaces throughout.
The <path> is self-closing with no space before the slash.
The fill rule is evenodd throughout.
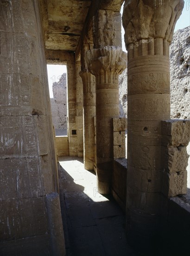
<path id="1" fill-rule="evenodd" d="M 56 135 L 67 135 L 67 74 L 63 73 L 58 82 L 54 82 L 51 113 Z"/>

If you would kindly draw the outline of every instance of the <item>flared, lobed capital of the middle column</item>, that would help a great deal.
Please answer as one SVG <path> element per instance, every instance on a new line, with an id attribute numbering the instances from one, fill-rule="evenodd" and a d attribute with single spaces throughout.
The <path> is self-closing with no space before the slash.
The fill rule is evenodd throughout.
<path id="1" fill-rule="evenodd" d="M 86 62 L 90 73 L 95 77 L 101 77 L 100 83 L 115 83 L 114 77 L 127 67 L 127 53 L 120 47 L 106 46 L 98 49 L 92 49 L 86 52 Z M 108 76 L 105 76 L 108 74 Z M 103 80 L 102 80 L 103 79 Z"/>

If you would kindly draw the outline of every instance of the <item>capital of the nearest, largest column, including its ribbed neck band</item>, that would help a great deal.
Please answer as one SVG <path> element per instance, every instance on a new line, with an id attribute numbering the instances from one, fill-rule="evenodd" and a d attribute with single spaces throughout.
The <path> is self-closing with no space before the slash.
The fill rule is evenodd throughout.
<path id="1" fill-rule="evenodd" d="M 166 55 L 184 0 L 131 0 L 123 8 L 125 44 L 129 59 Z"/>

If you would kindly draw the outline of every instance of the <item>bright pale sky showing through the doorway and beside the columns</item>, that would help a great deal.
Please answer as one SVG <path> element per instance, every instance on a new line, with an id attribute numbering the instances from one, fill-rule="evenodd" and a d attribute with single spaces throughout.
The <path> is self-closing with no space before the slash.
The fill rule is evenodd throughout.
<path id="1" fill-rule="evenodd" d="M 190 26 L 190 0 L 184 0 L 184 9 L 179 17 L 179 20 L 177 20 L 175 30 L 182 29 L 184 27 Z M 123 7 L 121 7 L 121 13 L 123 12 Z M 121 34 L 122 34 L 122 48 L 123 51 L 126 51 L 125 43 L 124 43 L 124 29 L 121 28 Z M 53 98 L 53 92 L 52 92 L 52 85 L 53 82 L 59 81 L 60 76 L 63 73 L 67 72 L 67 68 L 64 65 L 47 65 L 48 70 L 48 82 L 49 82 L 49 89 L 50 89 L 50 97 Z"/>

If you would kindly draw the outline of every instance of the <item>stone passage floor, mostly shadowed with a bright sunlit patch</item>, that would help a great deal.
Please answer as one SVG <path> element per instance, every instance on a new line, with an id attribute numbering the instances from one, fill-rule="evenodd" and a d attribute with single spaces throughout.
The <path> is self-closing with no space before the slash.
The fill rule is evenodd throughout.
<path id="1" fill-rule="evenodd" d="M 126 242 L 123 212 L 112 197 L 97 193 L 95 173 L 83 168 L 82 158 L 59 161 L 67 256 L 137 256 Z"/>

